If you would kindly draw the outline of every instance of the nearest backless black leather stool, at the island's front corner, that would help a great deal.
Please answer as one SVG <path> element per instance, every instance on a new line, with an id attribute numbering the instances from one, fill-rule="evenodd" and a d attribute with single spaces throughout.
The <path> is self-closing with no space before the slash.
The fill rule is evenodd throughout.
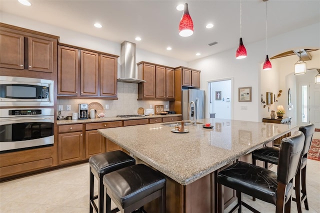
<path id="1" fill-rule="evenodd" d="M 144 164 L 136 164 L 103 176 L 105 211 L 110 212 L 110 199 L 123 212 L 132 212 L 160 197 L 160 212 L 165 212 L 165 177 Z"/>

